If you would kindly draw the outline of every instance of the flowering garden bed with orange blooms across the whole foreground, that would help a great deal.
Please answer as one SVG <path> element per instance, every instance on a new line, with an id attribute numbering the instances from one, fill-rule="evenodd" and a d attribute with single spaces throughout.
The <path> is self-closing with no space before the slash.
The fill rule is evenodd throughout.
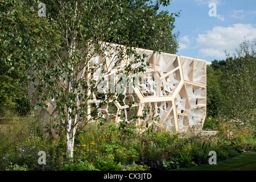
<path id="1" fill-rule="evenodd" d="M 209 151 L 216 151 L 217 160 L 224 160 L 255 151 L 256 146 L 253 128 L 226 121 L 218 125 L 219 132 L 214 137 L 155 131 L 138 134 L 122 127 L 127 123 L 90 123 L 77 136 L 70 160 L 65 157 L 65 139 L 44 137 L 40 119 L 10 118 L 0 122 L 1 170 L 170 170 L 207 164 Z M 226 131 L 233 133 L 228 135 Z M 9 132 L 11 135 L 7 135 Z M 38 152 L 42 150 L 47 154 L 46 165 L 38 164 Z"/>

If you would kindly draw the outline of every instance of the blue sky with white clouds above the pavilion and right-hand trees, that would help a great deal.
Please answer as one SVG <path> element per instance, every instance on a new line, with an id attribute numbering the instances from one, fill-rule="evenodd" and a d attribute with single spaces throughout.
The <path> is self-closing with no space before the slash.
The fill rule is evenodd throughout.
<path id="1" fill-rule="evenodd" d="M 256 39 L 256 0 L 172 0 L 161 10 L 181 10 L 173 30 L 180 32 L 176 55 L 210 64 L 225 60 L 225 51 L 232 55 L 243 41 Z"/>

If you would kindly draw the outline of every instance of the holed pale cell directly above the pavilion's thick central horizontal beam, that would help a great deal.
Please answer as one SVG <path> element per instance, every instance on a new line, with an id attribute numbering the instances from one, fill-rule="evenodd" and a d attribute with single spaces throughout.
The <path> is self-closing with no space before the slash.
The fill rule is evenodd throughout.
<path id="1" fill-rule="evenodd" d="M 160 96 L 172 96 L 175 89 L 177 88 L 177 85 L 179 85 L 180 81 L 181 81 L 181 78 L 180 78 L 179 69 L 177 69 L 173 73 L 164 75 L 164 77 L 160 81 L 161 83 Z"/>

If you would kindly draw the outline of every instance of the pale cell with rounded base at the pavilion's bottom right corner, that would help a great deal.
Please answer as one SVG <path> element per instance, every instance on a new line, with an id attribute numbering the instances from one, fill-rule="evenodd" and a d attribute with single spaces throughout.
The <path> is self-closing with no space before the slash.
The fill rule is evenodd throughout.
<path id="1" fill-rule="evenodd" d="M 189 111 L 188 119 L 189 119 L 189 126 L 195 132 L 201 130 L 203 126 L 204 119 L 206 114 L 206 107 L 196 107 Z"/>

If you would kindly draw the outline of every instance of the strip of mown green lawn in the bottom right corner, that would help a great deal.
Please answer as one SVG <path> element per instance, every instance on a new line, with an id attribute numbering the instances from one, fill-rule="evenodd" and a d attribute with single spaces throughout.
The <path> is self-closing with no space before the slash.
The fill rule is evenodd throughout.
<path id="1" fill-rule="evenodd" d="M 256 171 L 256 152 L 238 154 L 234 158 L 217 160 L 217 164 L 173 169 L 172 171 Z"/>

